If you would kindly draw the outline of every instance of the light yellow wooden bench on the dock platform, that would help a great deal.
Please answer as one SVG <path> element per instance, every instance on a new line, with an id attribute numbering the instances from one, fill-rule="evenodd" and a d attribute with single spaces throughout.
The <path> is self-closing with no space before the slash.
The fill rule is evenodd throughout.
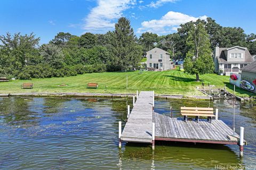
<path id="1" fill-rule="evenodd" d="M 180 107 L 180 113 L 184 116 L 185 122 L 187 122 L 187 116 L 196 116 L 196 121 L 198 122 L 199 116 L 207 117 L 207 121 L 212 122 L 213 108 L 211 107 Z"/>

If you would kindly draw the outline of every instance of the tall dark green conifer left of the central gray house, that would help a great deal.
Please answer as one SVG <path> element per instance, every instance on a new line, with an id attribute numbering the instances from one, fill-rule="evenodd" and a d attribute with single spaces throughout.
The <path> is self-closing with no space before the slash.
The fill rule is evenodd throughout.
<path id="1" fill-rule="evenodd" d="M 131 70 L 141 61 L 142 48 L 136 43 L 130 21 L 124 17 L 119 18 L 115 24 L 115 31 L 108 38 L 110 57 L 109 70 Z"/>

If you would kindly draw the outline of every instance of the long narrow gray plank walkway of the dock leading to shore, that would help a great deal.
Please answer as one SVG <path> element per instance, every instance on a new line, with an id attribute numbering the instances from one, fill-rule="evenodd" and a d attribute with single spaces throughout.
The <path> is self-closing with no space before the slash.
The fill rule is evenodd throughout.
<path id="1" fill-rule="evenodd" d="M 152 142 L 153 91 L 141 91 L 121 135 L 122 141 Z"/>

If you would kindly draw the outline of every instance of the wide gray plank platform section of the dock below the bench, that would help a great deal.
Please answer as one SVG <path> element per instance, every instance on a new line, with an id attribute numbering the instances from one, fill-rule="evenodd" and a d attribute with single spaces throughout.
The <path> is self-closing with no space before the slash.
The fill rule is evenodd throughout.
<path id="1" fill-rule="evenodd" d="M 233 135 L 233 131 L 221 120 L 212 120 L 212 123 L 202 119 L 198 123 L 194 120 L 185 122 L 183 118 L 154 113 L 154 122 L 155 140 L 231 145 L 238 142 L 236 138 L 228 138 L 228 135 Z M 239 138 L 237 133 L 235 135 Z"/>

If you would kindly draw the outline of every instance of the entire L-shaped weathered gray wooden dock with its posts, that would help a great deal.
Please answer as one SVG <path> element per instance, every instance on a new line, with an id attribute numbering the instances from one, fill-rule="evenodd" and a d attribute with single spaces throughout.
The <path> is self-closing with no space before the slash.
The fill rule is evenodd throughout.
<path id="1" fill-rule="evenodd" d="M 221 120 L 212 120 L 212 123 L 206 119 L 200 119 L 198 123 L 195 120 L 185 122 L 182 117 L 169 117 L 155 113 L 154 92 L 141 91 L 123 132 L 121 122 L 119 122 L 119 147 L 122 141 L 152 143 L 153 149 L 155 140 L 218 143 L 239 145 L 240 155 L 243 156 L 244 128 L 241 127 L 240 131 L 241 139 Z"/>

